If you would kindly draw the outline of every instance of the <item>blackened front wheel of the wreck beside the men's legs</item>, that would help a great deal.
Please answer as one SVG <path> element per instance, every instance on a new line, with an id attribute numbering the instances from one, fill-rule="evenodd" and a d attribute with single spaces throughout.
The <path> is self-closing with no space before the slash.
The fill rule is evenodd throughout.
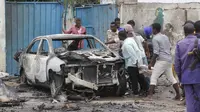
<path id="1" fill-rule="evenodd" d="M 126 71 L 124 68 L 121 68 L 118 73 L 118 81 L 119 85 L 116 87 L 116 95 L 117 96 L 123 96 L 126 93 L 127 90 L 127 80 L 126 80 Z"/>

